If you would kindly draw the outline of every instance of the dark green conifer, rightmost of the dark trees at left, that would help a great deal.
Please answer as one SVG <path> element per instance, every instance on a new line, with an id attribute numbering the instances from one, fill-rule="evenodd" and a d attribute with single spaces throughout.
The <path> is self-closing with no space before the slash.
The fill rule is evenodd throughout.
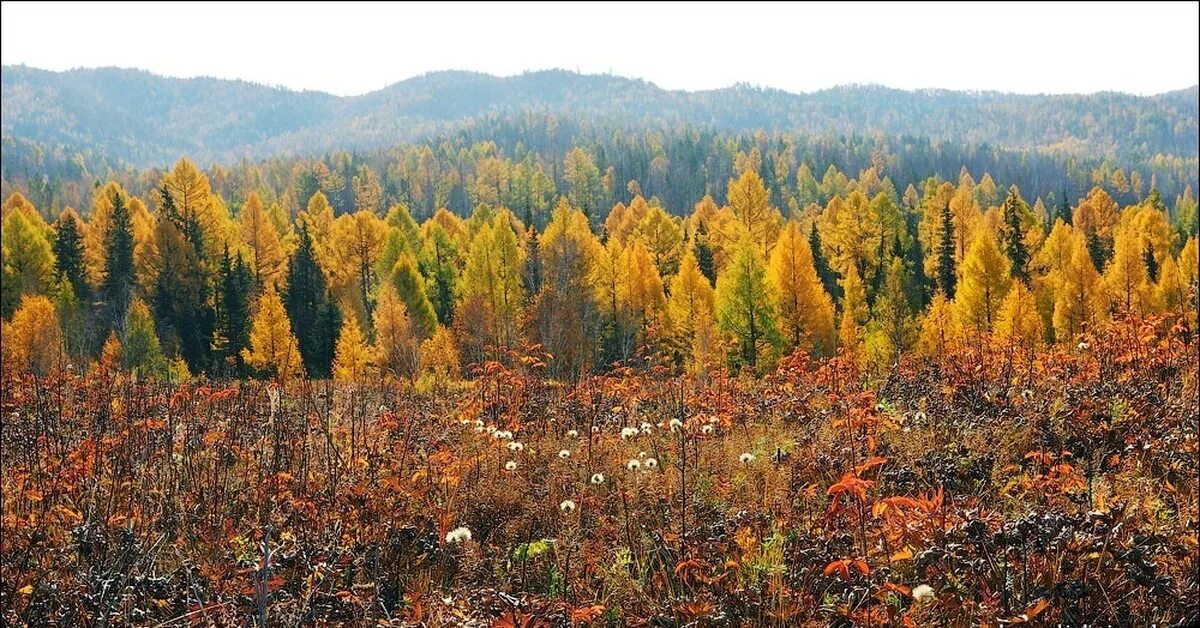
<path id="1" fill-rule="evenodd" d="M 342 313 L 330 299 L 325 275 L 317 263 L 307 225 L 300 225 L 300 241 L 288 264 L 283 297 L 288 319 L 296 330 L 300 357 L 310 377 L 328 377 Z"/>

